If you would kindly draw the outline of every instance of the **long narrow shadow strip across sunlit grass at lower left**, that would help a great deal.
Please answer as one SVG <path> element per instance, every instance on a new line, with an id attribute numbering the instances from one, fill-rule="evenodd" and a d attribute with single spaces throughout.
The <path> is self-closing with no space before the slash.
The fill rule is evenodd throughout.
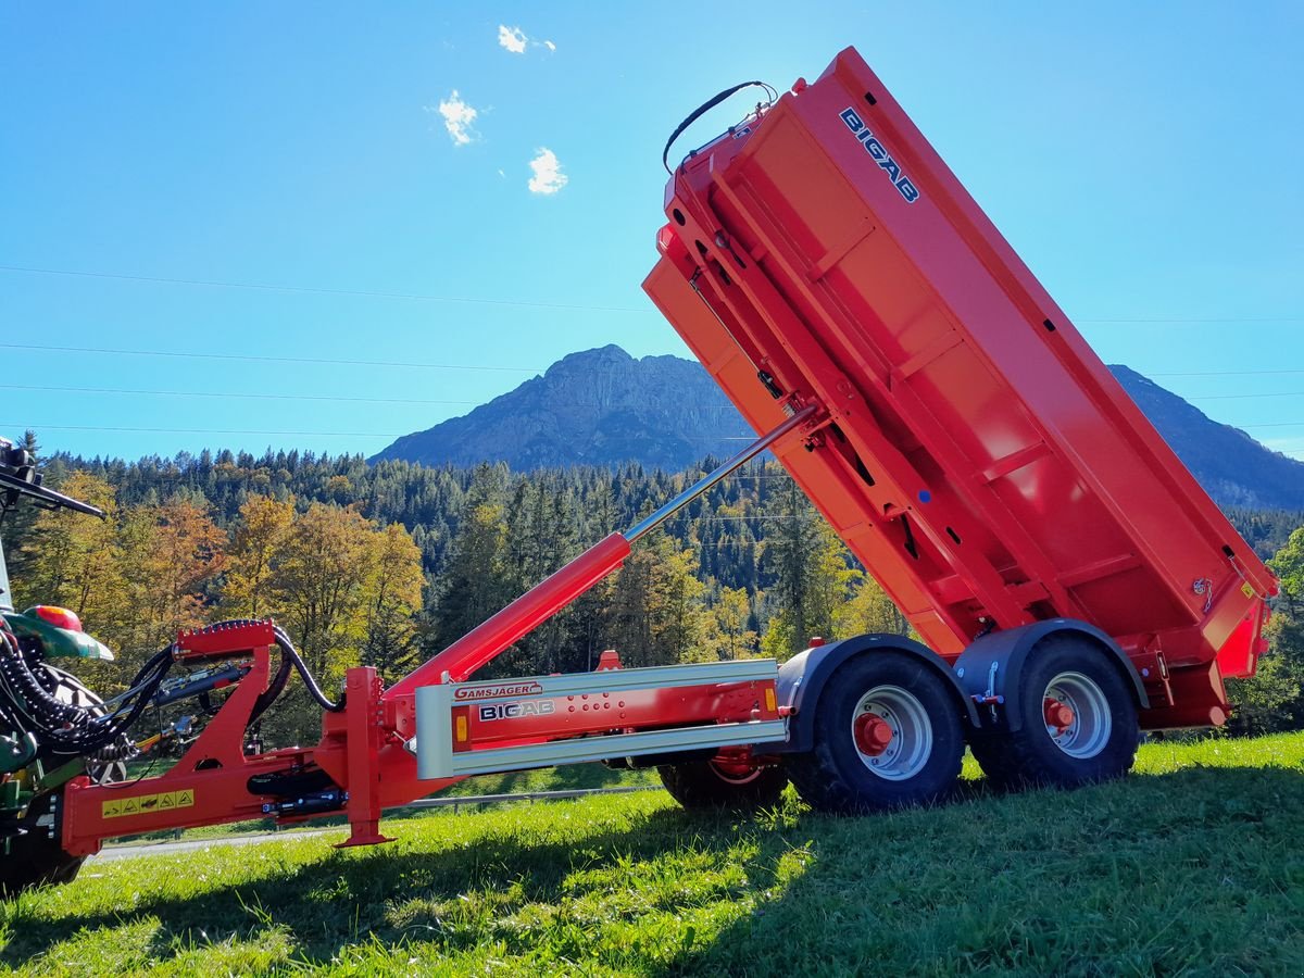
<path id="1" fill-rule="evenodd" d="M 266 876 L 218 883 L 192 897 L 147 893 L 121 910 L 59 919 L 23 915 L 0 951 L 0 964 L 27 962 L 81 931 L 150 918 L 160 922 L 150 947 L 155 964 L 176 949 L 230 938 L 248 940 L 274 927 L 288 928 L 309 962 L 327 962 L 340 949 L 366 940 L 389 947 L 434 940 L 456 952 L 472 947 L 475 934 L 449 926 L 441 905 L 456 905 L 467 895 L 488 895 L 499 914 L 524 904 L 553 904 L 576 862 L 593 868 L 647 859 L 702 824 L 674 808 L 627 818 L 632 822 L 627 829 L 585 831 L 575 842 L 523 841 L 503 828 L 434 853 L 411 852 L 402 842 L 327 852 L 288 872 L 273 858 Z M 214 870 L 222 859 L 244 855 L 243 849 L 214 849 Z"/>

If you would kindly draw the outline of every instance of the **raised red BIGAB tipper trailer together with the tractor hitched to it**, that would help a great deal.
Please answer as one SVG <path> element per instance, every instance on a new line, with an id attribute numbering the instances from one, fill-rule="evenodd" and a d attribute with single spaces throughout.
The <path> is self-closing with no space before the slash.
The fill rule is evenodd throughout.
<path id="1" fill-rule="evenodd" d="M 342 812 L 344 845 L 383 842 L 385 808 L 492 771 L 655 764 L 690 807 L 772 803 L 792 780 L 867 811 L 945 798 L 966 743 L 996 781 L 1077 785 L 1123 775 L 1141 726 L 1223 722 L 1275 580 L 855 51 L 691 153 L 665 210 L 644 287 L 764 434 L 393 686 L 349 669 L 338 700 L 263 621 L 183 632 L 102 703 L 47 661 L 76 617 L 0 593 L 0 721 L 26 719 L 0 722 L 0 889 L 70 879 L 110 837 L 259 815 Z M 922 642 L 475 677 L 767 449 Z M 95 511 L 7 442 L 0 488 Z M 263 750 L 293 672 L 321 741 Z M 197 733 L 128 733 L 219 689 Z M 119 780 L 111 762 L 166 739 L 186 745 L 166 773 Z"/>

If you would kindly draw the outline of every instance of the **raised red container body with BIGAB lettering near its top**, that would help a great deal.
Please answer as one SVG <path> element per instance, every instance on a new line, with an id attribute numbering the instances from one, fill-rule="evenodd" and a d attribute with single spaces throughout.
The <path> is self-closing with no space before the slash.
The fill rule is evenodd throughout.
<path id="1" fill-rule="evenodd" d="M 1226 719 L 1274 578 L 853 48 L 665 210 L 644 289 L 758 432 L 827 412 L 780 460 L 925 642 L 1081 619 Z"/>

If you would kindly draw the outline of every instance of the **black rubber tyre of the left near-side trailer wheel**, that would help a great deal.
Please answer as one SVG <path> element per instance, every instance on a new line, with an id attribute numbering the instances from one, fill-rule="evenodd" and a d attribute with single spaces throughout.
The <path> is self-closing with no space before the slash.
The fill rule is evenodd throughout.
<path id="1" fill-rule="evenodd" d="M 898 750 L 913 750 L 915 760 L 891 776 L 871 767 L 878 758 L 862 754 L 853 735 L 866 698 L 884 689 L 913 698 L 917 719 L 927 722 L 926 745 L 922 732 L 910 741 L 900 725 L 892 728 Z M 785 767 L 802 799 L 819 811 L 850 815 L 941 802 L 960 777 L 965 751 L 961 715 L 945 678 L 918 657 L 901 652 L 857 656 L 838 666 L 820 692 L 814 748 L 788 756 Z M 891 742 L 887 750 L 892 750 Z"/>

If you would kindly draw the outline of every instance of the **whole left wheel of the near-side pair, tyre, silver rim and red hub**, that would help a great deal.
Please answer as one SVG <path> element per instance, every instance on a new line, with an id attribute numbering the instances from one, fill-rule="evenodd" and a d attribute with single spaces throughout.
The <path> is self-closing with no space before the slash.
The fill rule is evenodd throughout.
<path id="1" fill-rule="evenodd" d="M 965 750 L 960 705 L 914 656 L 876 652 L 845 662 L 815 707 L 814 748 L 786 760 L 814 808 L 840 814 L 943 801 Z"/>

